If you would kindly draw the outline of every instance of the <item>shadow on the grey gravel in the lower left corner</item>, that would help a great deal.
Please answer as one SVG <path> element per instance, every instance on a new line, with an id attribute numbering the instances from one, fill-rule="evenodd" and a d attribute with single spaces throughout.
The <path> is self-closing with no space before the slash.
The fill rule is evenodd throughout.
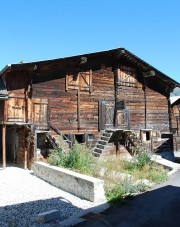
<path id="1" fill-rule="evenodd" d="M 61 221 L 82 211 L 61 197 L 0 206 L 0 226 L 40 226 L 35 222 L 37 215 L 54 209 L 60 211 L 59 218 L 45 226 L 58 226 L 57 224 Z"/>

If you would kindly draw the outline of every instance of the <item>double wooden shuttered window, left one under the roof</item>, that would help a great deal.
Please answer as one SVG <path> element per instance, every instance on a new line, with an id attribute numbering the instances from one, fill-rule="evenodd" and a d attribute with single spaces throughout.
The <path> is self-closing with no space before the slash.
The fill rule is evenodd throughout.
<path id="1" fill-rule="evenodd" d="M 74 72 L 66 75 L 66 90 L 80 90 L 91 93 L 92 70 L 87 72 Z"/>

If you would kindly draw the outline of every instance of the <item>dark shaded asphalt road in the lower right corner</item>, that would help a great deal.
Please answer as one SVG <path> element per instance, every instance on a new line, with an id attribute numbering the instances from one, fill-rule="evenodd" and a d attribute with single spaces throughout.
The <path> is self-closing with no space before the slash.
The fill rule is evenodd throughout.
<path id="1" fill-rule="evenodd" d="M 99 215 L 85 216 L 78 227 L 179 227 L 180 188 L 162 185 L 129 200 L 127 205 L 111 207 Z"/>

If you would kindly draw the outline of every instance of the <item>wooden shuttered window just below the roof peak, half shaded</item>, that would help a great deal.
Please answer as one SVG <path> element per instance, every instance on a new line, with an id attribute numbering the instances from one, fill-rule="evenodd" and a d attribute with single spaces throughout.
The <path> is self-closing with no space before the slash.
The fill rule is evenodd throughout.
<path id="1" fill-rule="evenodd" d="M 131 67 L 121 66 L 118 69 L 118 85 L 127 87 L 136 87 L 135 69 Z"/>

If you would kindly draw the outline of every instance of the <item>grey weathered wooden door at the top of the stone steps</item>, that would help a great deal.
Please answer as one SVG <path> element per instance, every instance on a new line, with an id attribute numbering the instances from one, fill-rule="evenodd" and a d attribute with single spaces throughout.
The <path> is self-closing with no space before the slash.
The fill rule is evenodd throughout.
<path id="1" fill-rule="evenodd" d="M 114 102 L 99 101 L 99 130 L 114 128 Z"/>

